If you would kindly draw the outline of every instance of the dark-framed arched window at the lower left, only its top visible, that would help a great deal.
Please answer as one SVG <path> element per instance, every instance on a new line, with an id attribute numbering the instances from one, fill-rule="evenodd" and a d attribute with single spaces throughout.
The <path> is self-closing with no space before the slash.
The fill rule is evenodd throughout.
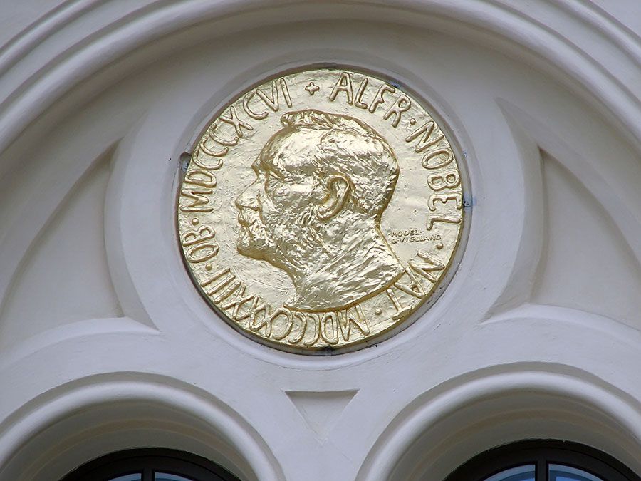
<path id="1" fill-rule="evenodd" d="M 204 457 L 162 448 L 114 452 L 69 473 L 61 481 L 239 481 Z"/>

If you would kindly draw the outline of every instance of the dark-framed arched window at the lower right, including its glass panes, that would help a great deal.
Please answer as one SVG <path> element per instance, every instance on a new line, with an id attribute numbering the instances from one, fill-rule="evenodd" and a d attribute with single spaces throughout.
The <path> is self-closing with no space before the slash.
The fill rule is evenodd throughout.
<path id="1" fill-rule="evenodd" d="M 446 481 L 640 481 L 610 455 L 578 443 L 528 440 L 472 458 Z"/>

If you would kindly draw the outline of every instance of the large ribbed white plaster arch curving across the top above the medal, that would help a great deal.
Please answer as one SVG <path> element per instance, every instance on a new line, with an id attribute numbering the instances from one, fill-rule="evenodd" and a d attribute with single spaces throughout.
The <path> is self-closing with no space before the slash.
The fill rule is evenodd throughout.
<path id="1" fill-rule="evenodd" d="M 236 25 L 230 20 L 241 15 L 244 29 L 282 23 L 284 18 L 385 19 L 436 31 L 458 31 L 512 51 L 519 46 L 522 56 L 538 59 L 543 68 L 547 63 L 546 70 L 551 71 L 549 65 L 553 65 L 555 76 L 566 84 L 572 76 L 590 93 L 593 102 L 613 114 L 637 146 L 640 143 L 641 95 L 634 90 L 637 84 L 621 80 L 639 71 L 638 39 L 598 9 L 576 0 L 561 4 L 538 0 L 523 11 L 496 0 L 333 1 L 322 5 L 288 1 L 278 6 L 269 0 L 213 4 L 201 0 L 135 1 L 125 9 L 110 9 L 109 4 L 99 3 L 64 4 L 27 29 L 24 36 L 15 38 L 0 54 L 0 71 L 11 67 L 11 75 L 4 78 L 6 96 L 0 105 L 0 150 L 56 98 L 127 52 L 209 20 L 225 19 L 229 27 L 217 25 L 216 31 L 229 34 L 227 29 Z M 588 16 L 591 21 L 585 21 Z M 563 22 L 562 29 L 548 26 L 548 22 L 558 21 Z M 586 34 L 586 30 L 592 34 Z M 53 36 L 62 36 L 65 41 L 48 42 Z M 38 56 L 43 49 L 46 58 L 51 58 L 45 65 Z"/>

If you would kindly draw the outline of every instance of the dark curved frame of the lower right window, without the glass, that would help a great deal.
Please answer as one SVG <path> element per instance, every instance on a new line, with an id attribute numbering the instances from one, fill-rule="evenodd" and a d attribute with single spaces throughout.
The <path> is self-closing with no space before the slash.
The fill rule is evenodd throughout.
<path id="1" fill-rule="evenodd" d="M 607 481 L 641 481 L 629 467 L 603 451 L 561 440 L 524 440 L 492 448 L 454 470 L 445 481 L 482 481 L 522 465 L 536 466 L 536 481 L 548 481 L 549 465 L 584 470 Z"/>

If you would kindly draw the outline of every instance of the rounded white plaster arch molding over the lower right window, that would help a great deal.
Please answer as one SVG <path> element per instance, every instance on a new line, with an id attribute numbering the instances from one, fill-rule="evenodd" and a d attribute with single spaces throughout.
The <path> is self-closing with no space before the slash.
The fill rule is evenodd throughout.
<path id="1" fill-rule="evenodd" d="M 592 445 L 640 470 L 641 406 L 570 366 L 479 369 L 407 405 L 377 438 L 356 479 L 443 479 L 479 452 L 528 438 Z"/>

